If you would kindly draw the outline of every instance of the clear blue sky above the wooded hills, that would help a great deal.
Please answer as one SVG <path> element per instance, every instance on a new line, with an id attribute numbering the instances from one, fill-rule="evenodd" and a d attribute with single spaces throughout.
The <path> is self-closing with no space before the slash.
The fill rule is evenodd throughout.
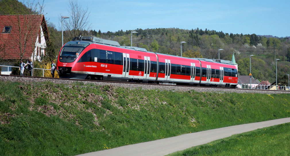
<path id="1" fill-rule="evenodd" d="M 289 0 L 79 0 L 78 3 L 88 6 L 91 29 L 101 32 L 198 27 L 233 34 L 290 36 Z M 69 16 L 68 0 L 45 0 L 44 5 L 46 20 L 61 30 L 59 17 Z"/>

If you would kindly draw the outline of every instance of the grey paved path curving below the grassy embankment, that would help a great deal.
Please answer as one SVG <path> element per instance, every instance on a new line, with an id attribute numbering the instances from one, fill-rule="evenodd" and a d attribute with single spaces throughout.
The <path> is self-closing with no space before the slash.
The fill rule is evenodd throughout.
<path id="1" fill-rule="evenodd" d="M 150 142 L 121 146 L 103 151 L 81 154 L 79 156 L 163 156 L 193 146 L 212 142 L 234 134 L 253 131 L 277 124 L 290 122 L 290 118 L 276 119 L 251 124 L 229 126 L 196 133 L 183 134 Z"/>

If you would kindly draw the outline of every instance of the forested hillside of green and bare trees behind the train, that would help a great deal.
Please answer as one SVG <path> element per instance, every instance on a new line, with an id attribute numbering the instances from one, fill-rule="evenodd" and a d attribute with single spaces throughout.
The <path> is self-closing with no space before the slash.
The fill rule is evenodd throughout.
<path id="1" fill-rule="evenodd" d="M 15 14 L 15 5 L 22 3 L 12 3 L 16 0 L 0 1 L 0 14 Z M 10 3 L 11 2 L 11 3 Z M 14 5 L 15 4 L 15 5 Z M 28 7 L 29 8 L 29 7 Z M 23 9 L 22 9 L 23 10 Z M 28 9 L 29 10 L 29 9 Z M 30 10 L 34 10 L 33 8 Z M 26 12 L 22 12 L 25 14 Z M 36 12 L 37 13 L 37 12 Z M 48 20 L 48 19 L 46 19 Z M 61 48 L 61 30 L 55 25 L 59 23 L 50 23 L 47 21 L 50 43 L 46 52 L 51 59 Z M 129 26 L 128 26 L 129 27 Z M 131 46 L 131 31 L 136 31 L 132 36 L 133 46 L 146 48 L 148 51 L 172 54 L 180 56 L 180 42 L 182 43 L 182 56 L 184 57 L 203 57 L 218 59 L 218 49 L 220 59 L 231 60 L 234 53 L 236 63 L 238 63 L 239 75 L 249 75 L 251 57 L 251 73 L 258 80 L 276 81 L 276 59 L 278 69 L 278 83 L 288 85 L 288 76 L 290 74 L 290 40 L 289 37 L 273 37 L 271 34 L 233 34 L 231 32 L 202 30 L 198 28 L 183 30 L 179 28 L 153 28 L 142 30 L 119 30 L 117 32 L 102 32 L 94 27 L 93 30 L 79 31 L 81 36 L 95 36 L 103 39 L 117 41 L 120 45 Z M 64 31 L 64 43 L 70 41 L 68 32 Z M 285 34 L 286 36 L 287 34 Z"/>

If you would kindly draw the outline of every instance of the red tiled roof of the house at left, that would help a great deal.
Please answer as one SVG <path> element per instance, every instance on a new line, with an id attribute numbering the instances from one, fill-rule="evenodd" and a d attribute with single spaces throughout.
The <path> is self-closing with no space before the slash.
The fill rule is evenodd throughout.
<path id="1" fill-rule="evenodd" d="M 35 48 L 41 25 L 47 32 L 44 15 L 0 15 L 0 52 L 2 59 L 30 58 Z M 3 33 L 5 26 L 11 26 L 10 33 Z"/>

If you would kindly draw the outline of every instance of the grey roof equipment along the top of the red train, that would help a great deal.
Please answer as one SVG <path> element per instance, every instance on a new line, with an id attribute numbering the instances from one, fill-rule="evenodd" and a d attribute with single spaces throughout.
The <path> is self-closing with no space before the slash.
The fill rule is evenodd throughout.
<path id="1" fill-rule="evenodd" d="M 97 37 L 80 36 L 80 37 L 73 38 L 72 41 L 87 41 L 87 42 L 105 44 L 105 45 L 110 45 L 110 46 L 116 46 L 116 47 L 120 47 L 120 48 L 124 48 L 124 49 L 131 49 L 131 50 L 136 50 L 136 51 L 141 51 L 141 52 L 154 53 L 154 52 L 147 51 L 145 48 L 121 46 L 117 41 L 105 40 L 105 39 L 97 38 Z M 174 56 L 174 55 L 161 54 L 161 53 L 156 53 L 156 54 Z M 174 56 L 174 57 L 186 58 L 186 57 L 182 57 L 182 56 Z M 229 61 L 229 60 L 208 59 L 208 58 L 189 58 L 189 59 L 203 60 L 203 61 L 207 61 L 207 62 L 215 62 L 215 63 L 224 63 L 224 64 L 234 65 L 234 63 L 232 61 Z"/>

